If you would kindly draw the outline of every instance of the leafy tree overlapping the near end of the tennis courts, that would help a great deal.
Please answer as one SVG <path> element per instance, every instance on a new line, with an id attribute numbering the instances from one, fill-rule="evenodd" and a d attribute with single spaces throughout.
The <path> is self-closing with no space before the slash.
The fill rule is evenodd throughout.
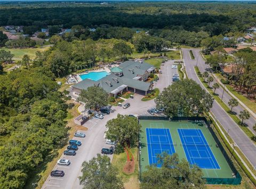
<path id="1" fill-rule="evenodd" d="M 185 159 L 179 161 L 177 153 L 170 156 L 164 152 L 158 154 L 157 158 L 162 167 L 147 166 L 147 170 L 142 173 L 142 189 L 191 188 L 191 183 L 195 188 L 205 187 L 202 170 L 196 165 L 191 168 Z"/>

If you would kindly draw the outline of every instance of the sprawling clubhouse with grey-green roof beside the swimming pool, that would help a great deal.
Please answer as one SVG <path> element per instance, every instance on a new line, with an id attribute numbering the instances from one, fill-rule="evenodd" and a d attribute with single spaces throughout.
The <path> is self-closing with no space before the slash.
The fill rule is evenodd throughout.
<path id="1" fill-rule="evenodd" d="M 81 93 L 81 90 L 86 90 L 91 86 L 103 88 L 109 96 L 114 96 L 124 91 L 132 91 L 147 95 L 149 90 L 152 90 L 153 84 L 145 82 L 150 73 L 154 73 L 155 67 L 139 61 L 126 61 L 119 67 L 111 68 L 109 75 L 101 78 L 98 81 L 85 79 L 73 85 L 73 92 Z"/>

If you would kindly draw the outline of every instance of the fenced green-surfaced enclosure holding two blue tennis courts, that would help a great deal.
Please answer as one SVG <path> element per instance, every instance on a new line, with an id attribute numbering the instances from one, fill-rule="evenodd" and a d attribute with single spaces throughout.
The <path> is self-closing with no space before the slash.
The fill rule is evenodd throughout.
<path id="1" fill-rule="evenodd" d="M 205 118 L 170 121 L 166 117 L 139 116 L 142 126 L 139 135 L 140 171 L 145 171 L 149 165 L 161 167 L 157 163 L 157 154 L 165 151 L 178 153 L 180 160 L 186 159 L 191 166 L 200 167 L 207 184 L 240 184 L 241 176 L 205 122 Z"/>

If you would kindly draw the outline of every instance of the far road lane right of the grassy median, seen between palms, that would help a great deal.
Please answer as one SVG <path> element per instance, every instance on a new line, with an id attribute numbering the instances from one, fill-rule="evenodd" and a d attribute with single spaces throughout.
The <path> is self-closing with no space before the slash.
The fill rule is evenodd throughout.
<path id="1" fill-rule="evenodd" d="M 201 73 L 203 73 L 205 70 L 207 70 L 207 68 L 209 69 L 209 66 L 205 64 L 204 59 L 202 58 L 202 56 L 199 55 L 199 49 L 193 49 L 193 54 L 194 56 L 197 58 L 198 57 L 198 63 L 197 66 L 199 67 L 199 70 L 201 71 Z M 199 55 L 199 56 L 198 56 Z M 212 87 L 212 85 L 214 83 L 217 83 L 217 81 L 214 79 L 213 82 L 210 83 L 210 87 Z M 216 89 L 215 93 L 217 93 L 219 95 L 219 97 L 222 97 L 222 93 L 223 93 L 223 89 L 219 88 Z M 225 102 L 225 104 L 228 106 L 228 101 L 231 99 L 232 97 L 229 95 L 229 93 L 225 90 L 223 93 L 223 102 Z M 229 106 L 230 107 L 230 106 Z M 231 107 L 230 107 L 231 108 Z M 232 111 L 234 111 L 235 114 L 239 115 L 240 111 L 243 111 L 244 108 L 238 104 L 238 106 L 233 107 Z M 256 131 L 253 130 L 253 126 L 256 123 L 256 119 L 251 115 L 251 117 L 249 119 L 246 119 L 244 121 L 244 123 L 247 124 L 247 126 L 250 128 L 250 130 L 256 134 Z"/>

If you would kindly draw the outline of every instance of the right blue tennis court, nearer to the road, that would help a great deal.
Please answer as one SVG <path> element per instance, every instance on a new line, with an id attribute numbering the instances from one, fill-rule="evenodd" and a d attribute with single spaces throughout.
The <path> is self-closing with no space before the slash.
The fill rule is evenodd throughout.
<path id="1" fill-rule="evenodd" d="M 178 128 L 178 133 L 190 164 L 196 164 L 202 169 L 220 169 L 210 148 L 211 144 L 207 143 L 200 129 Z"/>

